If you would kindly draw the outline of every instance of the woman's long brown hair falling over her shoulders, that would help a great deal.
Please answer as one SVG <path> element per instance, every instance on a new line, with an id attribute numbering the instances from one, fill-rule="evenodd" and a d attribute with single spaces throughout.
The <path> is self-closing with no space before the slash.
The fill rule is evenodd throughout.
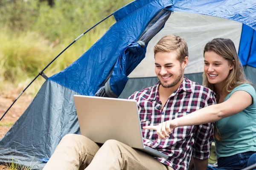
<path id="1" fill-rule="evenodd" d="M 234 88 L 243 83 L 251 84 L 250 81 L 245 77 L 243 66 L 236 52 L 235 44 L 232 40 L 215 38 L 205 45 L 204 54 L 207 51 L 214 51 L 216 54 L 220 55 L 224 59 L 227 59 L 228 62 L 233 65 L 233 69 L 230 70 L 230 73 L 225 80 L 225 85 L 221 90 L 221 94 L 228 94 Z M 207 88 L 210 88 L 216 93 L 214 84 L 209 83 L 205 74 L 203 74 L 203 85 Z M 214 137 L 217 140 L 221 139 L 220 133 L 218 132 L 216 126 L 216 122 L 214 126 Z"/>

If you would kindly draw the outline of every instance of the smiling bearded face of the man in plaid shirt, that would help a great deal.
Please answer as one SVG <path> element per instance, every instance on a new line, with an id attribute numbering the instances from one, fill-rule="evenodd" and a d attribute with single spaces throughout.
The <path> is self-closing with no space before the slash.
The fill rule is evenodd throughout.
<path id="1" fill-rule="evenodd" d="M 157 52 L 155 54 L 155 72 L 164 88 L 171 88 L 183 79 L 186 64 L 177 60 L 175 52 Z"/>

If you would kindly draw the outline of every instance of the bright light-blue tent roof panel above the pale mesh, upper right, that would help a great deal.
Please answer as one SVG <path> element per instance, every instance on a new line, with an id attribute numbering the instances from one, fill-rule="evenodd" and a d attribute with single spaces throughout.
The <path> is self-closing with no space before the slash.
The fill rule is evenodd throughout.
<path id="1" fill-rule="evenodd" d="M 252 0 L 172 0 L 172 3 L 172 11 L 226 18 L 256 29 L 256 3 Z"/>

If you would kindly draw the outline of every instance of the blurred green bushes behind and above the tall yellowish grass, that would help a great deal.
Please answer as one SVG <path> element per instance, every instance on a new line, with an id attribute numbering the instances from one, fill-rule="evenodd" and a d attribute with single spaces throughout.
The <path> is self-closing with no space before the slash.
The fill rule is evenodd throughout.
<path id="1" fill-rule="evenodd" d="M 0 0 L 0 23 L 13 31 L 38 31 L 50 40 L 76 38 L 131 0 L 55 0 L 51 8 L 39 0 Z M 2 5 L 1 5 L 2 4 Z M 101 24 L 109 28 L 109 18 Z"/>

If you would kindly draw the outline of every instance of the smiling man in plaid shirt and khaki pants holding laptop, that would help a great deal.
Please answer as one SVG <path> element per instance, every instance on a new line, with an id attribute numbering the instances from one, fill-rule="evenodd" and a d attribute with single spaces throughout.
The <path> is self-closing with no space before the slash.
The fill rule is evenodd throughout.
<path id="1" fill-rule="evenodd" d="M 155 45 L 154 58 L 160 81 L 129 97 L 137 100 L 141 127 L 159 125 L 215 104 L 211 90 L 183 77 L 188 64 L 184 39 L 166 35 Z M 160 138 L 155 130 L 142 129 L 144 144 L 169 155 L 168 159 L 154 158 L 116 140 L 99 146 L 85 136 L 68 134 L 44 169 L 187 170 L 193 153 L 195 169 L 206 170 L 212 129 L 211 123 L 177 127 L 167 138 Z"/>

